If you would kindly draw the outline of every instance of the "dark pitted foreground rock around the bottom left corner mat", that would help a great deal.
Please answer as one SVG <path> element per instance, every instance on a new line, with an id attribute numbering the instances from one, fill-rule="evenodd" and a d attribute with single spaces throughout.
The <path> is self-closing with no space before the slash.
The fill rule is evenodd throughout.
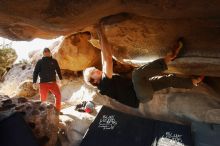
<path id="1" fill-rule="evenodd" d="M 0 99 L 0 113 L 21 112 L 41 145 L 54 146 L 57 142 L 59 117 L 55 107 L 26 98 Z"/>

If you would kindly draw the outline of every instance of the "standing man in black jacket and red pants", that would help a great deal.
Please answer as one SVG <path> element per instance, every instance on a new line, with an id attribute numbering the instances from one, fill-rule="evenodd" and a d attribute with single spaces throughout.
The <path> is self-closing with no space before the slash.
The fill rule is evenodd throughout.
<path id="1" fill-rule="evenodd" d="M 60 89 L 56 83 L 56 73 L 59 79 L 62 80 L 60 67 L 56 59 L 52 58 L 49 48 L 44 48 L 42 59 L 38 60 L 33 73 L 33 88 L 37 89 L 37 78 L 40 76 L 40 97 L 44 102 L 47 99 L 50 91 L 56 97 L 56 109 L 60 112 L 61 108 L 61 94 Z"/>

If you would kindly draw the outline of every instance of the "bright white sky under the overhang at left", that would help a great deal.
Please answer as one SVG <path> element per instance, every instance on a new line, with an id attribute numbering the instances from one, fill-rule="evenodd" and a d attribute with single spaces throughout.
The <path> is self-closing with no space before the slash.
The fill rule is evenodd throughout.
<path id="1" fill-rule="evenodd" d="M 32 41 L 11 41 L 9 39 L 0 37 L 0 44 L 3 44 L 3 43 L 8 44 L 12 42 L 11 47 L 15 49 L 18 55 L 16 62 L 19 62 L 22 59 L 28 59 L 29 52 L 36 50 L 36 49 L 39 50 L 45 47 L 49 47 L 58 39 L 60 39 L 60 37 L 56 39 L 51 39 L 51 40 L 36 38 Z"/>

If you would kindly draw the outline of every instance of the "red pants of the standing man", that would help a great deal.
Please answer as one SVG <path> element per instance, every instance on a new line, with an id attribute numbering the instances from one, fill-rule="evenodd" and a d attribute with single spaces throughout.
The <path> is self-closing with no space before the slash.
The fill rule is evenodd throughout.
<path id="1" fill-rule="evenodd" d="M 40 83 L 40 97 L 41 101 L 47 100 L 48 92 L 51 92 L 56 97 L 56 109 L 60 111 L 61 108 L 61 94 L 60 89 L 56 82 L 52 83 Z"/>

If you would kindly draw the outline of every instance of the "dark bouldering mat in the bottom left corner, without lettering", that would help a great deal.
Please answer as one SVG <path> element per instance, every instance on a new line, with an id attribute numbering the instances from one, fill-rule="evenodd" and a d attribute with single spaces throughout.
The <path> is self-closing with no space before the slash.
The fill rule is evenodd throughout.
<path id="1" fill-rule="evenodd" d="M 0 146 L 38 146 L 21 114 L 15 113 L 0 122 Z"/>

